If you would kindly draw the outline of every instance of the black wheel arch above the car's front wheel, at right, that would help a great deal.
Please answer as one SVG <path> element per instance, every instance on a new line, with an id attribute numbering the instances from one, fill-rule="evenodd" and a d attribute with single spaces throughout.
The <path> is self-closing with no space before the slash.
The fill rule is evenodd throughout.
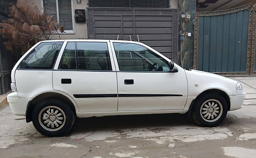
<path id="1" fill-rule="evenodd" d="M 192 110 L 193 110 L 193 106 L 194 106 L 194 103 L 196 101 L 196 99 L 200 98 L 201 96 L 203 96 L 204 94 L 207 94 L 207 93 L 217 93 L 217 94 L 220 94 L 222 97 L 224 97 L 227 101 L 227 104 L 228 104 L 228 111 L 230 110 L 230 98 L 228 96 L 228 94 L 226 92 L 224 92 L 223 90 L 220 90 L 220 89 L 208 89 L 208 90 L 204 90 L 202 93 L 200 93 L 190 104 L 189 106 L 189 109 L 188 109 L 188 116 L 190 117 L 191 114 L 192 114 Z"/>

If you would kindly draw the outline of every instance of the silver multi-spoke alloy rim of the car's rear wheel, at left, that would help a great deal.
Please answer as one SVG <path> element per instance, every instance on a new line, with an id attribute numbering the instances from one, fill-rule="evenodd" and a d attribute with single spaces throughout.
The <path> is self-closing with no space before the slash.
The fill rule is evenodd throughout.
<path id="1" fill-rule="evenodd" d="M 47 106 L 40 111 L 38 120 L 47 131 L 58 131 L 65 125 L 66 115 L 57 106 Z"/>

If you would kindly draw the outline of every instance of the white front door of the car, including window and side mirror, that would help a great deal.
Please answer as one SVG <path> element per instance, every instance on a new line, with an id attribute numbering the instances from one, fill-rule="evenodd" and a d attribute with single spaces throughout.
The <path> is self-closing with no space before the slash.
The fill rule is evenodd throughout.
<path id="1" fill-rule="evenodd" d="M 118 111 L 181 110 L 188 85 L 183 68 L 169 72 L 166 57 L 136 42 L 111 42 L 117 69 Z"/>

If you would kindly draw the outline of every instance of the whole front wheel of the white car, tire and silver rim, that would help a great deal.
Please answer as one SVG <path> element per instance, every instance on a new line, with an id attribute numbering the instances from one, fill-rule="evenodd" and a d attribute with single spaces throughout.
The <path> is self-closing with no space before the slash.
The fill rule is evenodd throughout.
<path id="1" fill-rule="evenodd" d="M 228 104 L 226 99 L 216 93 L 207 93 L 196 99 L 192 118 L 199 126 L 214 127 L 226 118 L 227 113 Z"/>

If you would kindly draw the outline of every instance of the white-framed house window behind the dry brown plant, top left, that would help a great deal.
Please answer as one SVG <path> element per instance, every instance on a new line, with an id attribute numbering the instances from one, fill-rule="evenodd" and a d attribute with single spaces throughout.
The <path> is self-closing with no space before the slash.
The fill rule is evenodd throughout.
<path id="1" fill-rule="evenodd" d="M 66 33 L 73 32 L 71 0 L 42 0 L 47 16 L 55 15 L 55 20 L 64 26 Z"/>

